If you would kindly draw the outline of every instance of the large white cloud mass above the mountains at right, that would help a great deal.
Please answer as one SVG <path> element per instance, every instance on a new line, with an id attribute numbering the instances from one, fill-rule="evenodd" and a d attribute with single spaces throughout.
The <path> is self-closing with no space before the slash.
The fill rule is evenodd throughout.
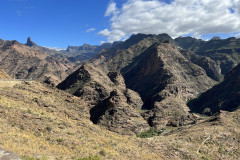
<path id="1" fill-rule="evenodd" d="M 111 2 L 105 16 L 111 17 L 111 28 L 99 34 L 108 37 L 109 42 L 136 33 L 200 37 L 207 33 L 239 32 L 240 0 L 175 0 L 171 4 L 128 0 L 120 9 Z"/>

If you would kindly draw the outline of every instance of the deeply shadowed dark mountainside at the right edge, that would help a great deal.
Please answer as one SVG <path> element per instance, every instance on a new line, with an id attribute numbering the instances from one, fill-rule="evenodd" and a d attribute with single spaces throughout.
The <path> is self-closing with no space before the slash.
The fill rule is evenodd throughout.
<path id="1" fill-rule="evenodd" d="M 188 103 L 193 112 L 212 115 L 220 110 L 233 111 L 240 106 L 240 65 L 227 73 L 224 81 Z"/>

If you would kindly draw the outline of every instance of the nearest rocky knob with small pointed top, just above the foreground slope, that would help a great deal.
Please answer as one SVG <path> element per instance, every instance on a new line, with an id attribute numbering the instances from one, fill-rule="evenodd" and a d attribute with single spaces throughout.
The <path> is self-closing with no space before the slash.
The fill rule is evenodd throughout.
<path id="1" fill-rule="evenodd" d="M 127 98 L 117 90 L 91 109 L 91 119 L 117 133 L 134 135 L 149 129 L 139 112 L 127 103 Z"/>

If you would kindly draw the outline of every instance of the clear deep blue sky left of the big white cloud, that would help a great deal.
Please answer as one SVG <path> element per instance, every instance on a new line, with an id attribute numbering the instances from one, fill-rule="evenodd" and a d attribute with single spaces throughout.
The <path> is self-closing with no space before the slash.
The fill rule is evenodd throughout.
<path id="1" fill-rule="evenodd" d="M 119 4 L 123 0 L 118 0 Z M 109 0 L 1 0 L 0 38 L 41 46 L 100 44 L 97 34 L 109 27 L 104 17 Z M 86 30 L 94 28 L 94 31 Z"/>

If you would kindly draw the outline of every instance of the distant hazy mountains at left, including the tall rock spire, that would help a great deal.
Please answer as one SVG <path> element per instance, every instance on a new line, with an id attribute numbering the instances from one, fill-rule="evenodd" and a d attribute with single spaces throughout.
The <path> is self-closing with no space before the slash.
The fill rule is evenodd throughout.
<path id="1" fill-rule="evenodd" d="M 26 44 L 0 40 L 0 65 L 16 79 L 34 79 L 56 85 L 75 70 L 79 63 L 95 56 L 101 46 L 83 45 L 56 51 L 38 46 L 31 38 Z"/>

